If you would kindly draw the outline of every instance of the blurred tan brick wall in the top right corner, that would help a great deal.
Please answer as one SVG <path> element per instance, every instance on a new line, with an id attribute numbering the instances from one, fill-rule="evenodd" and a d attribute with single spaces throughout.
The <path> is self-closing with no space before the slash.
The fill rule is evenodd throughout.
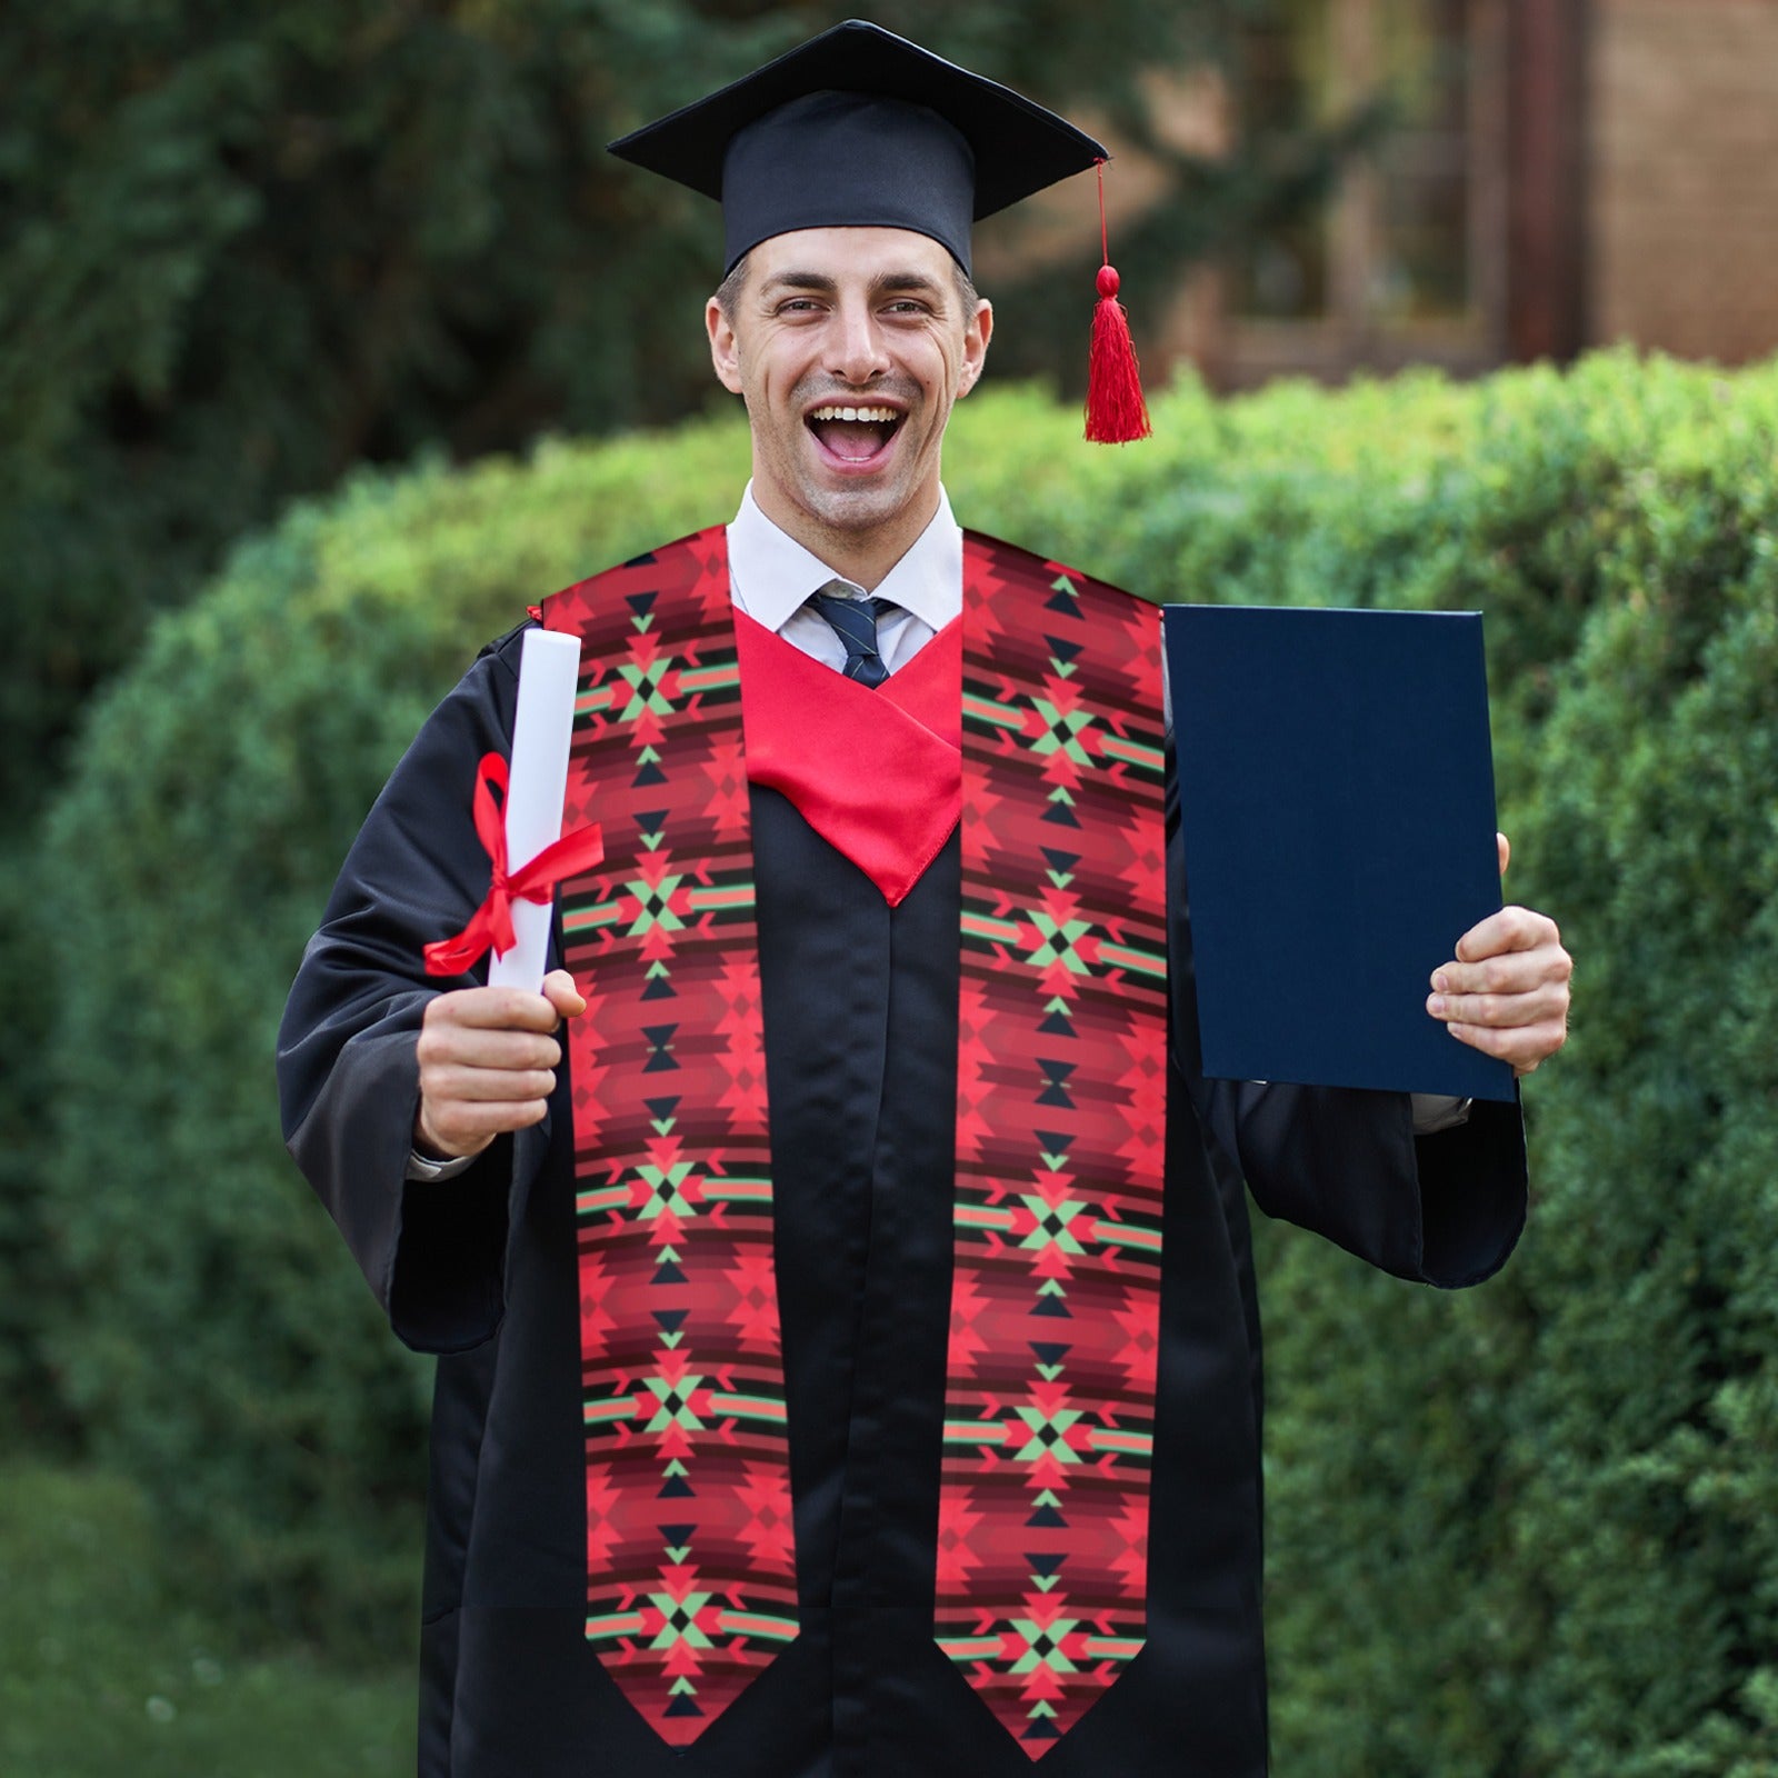
<path id="1" fill-rule="evenodd" d="M 1778 0 L 1593 0 L 1590 327 L 1778 352 Z"/>

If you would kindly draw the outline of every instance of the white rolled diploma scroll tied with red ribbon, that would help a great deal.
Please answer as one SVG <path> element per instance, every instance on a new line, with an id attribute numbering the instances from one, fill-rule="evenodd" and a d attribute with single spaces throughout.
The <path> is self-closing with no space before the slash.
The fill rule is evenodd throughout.
<path id="1" fill-rule="evenodd" d="M 562 837 L 578 683 L 580 638 L 555 629 L 526 629 L 519 654 L 519 711 L 512 724 L 512 781 L 507 788 L 510 871 L 530 864 L 544 846 Z M 549 957 L 549 903 L 514 900 L 512 930 L 512 949 L 487 960 L 487 985 L 537 994 Z"/>

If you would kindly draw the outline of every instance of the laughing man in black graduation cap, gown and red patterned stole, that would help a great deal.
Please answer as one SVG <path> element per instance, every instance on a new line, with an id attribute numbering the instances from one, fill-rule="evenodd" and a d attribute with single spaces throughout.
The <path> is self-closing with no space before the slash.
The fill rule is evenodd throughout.
<path id="1" fill-rule="evenodd" d="M 752 484 L 544 606 L 606 846 L 569 967 L 420 964 L 489 882 L 509 637 L 368 818 L 281 1042 L 292 1150 L 441 1355 L 421 1769 L 1253 1778 L 1241 1173 L 1467 1284 L 1524 1216 L 1517 1108 L 1198 1077 L 1154 612 L 949 516 L 971 215 L 1097 144 L 848 25 L 619 148 L 722 194 Z M 1458 1038 L 1561 1044 L 1542 916 L 1428 965 Z"/>

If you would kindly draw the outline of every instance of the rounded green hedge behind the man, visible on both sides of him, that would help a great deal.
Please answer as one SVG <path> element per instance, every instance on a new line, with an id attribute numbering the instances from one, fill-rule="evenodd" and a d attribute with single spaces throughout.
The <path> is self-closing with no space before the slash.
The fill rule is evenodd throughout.
<path id="1" fill-rule="evenodd" d="M 1488 612 L 1513 891 L 1577 953 L 1536 1205 L 1440 1298 L 1262 1230 L 1284 1778 L 1778 1773 L 1778 368 L 958 409 L 969 523 L 1175 597 Z M 539 592 L 725 516 L 734 423 L 364 478 L 242 549 L 53 820 L 53 1355 L 258 1611 L 398 1638 L 421 1376 L 283 1159 L 284 987 L 382 773 Z M 345 1627 L 340 1630 L 340 1627 Z"/>

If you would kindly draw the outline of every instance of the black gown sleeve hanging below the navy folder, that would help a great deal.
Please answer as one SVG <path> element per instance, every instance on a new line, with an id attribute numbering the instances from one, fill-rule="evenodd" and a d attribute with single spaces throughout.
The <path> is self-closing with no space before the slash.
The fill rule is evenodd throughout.
<path id="1" fill-rule="evenodd" d="M 1191 1088 L 1213 1163 L 1245 1177 L 1268 1216 L 1310 1229 L 1399 1278 L 1454 1289 L 1499 1271 L 1526 1221 L 1517 1097 L 1478 1099 L 1467 1122 L 1415 1136 L 1405 1092 L 1204 1076 L 1184 857 L 1168 789 L 1173 1063 Z M 1289 1008 L 1278 1015 L 1289 1017 Z"/>

